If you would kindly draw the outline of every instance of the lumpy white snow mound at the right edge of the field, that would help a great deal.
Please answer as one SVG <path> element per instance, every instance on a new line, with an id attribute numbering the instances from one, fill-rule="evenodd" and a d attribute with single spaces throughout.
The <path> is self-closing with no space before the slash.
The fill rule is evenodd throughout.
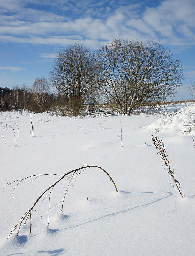
<path id="1" fill-rule="evenodd" d="M 174 114 L 167 115 L 151 123 L 148 128 L 150 131 L 174 131 L 188 134 L 195 131 L 195 106 L 186 106 Z"/>

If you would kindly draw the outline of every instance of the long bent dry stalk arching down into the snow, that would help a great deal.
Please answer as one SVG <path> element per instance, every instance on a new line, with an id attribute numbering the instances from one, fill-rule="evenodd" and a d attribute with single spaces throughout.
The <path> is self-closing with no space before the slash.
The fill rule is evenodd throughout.
<path id="1" fill-rule="evenodd" d="M 69 174 L 71 174 L 71 173 L 73 173 L 73 175 L 72 175 L 72 177 L 73 177 L 73 176 L 74 176 L 75 174 L 77 174 L 80 170 L 82 170 L 82 169 L 88 169 L 88 168 L 91 168 L 91 167 L 99 168 L 99 169 L 101 169 L 103 172 L 105 172 L 105 173 L 109 176 L 110 181 L 114 184 L 115 189 L 116 189 L 116 193 L 118 192 L 118 190 L 117 190 L 117 188 L 116 188 L 116 185 L 115 185 L 115 182 L 113 181 L 113 179 L 111 178 L 111 176 L 110 176 L 103 168 L 101 168 L 101 167 L 99 167 L 99 166 L 95 166 L 95 165 L 83 166 L 83 167 L 81 167 L 81 168 L 72 170 L 72 171 L 70 171 L 70 172 L 68 172 L 68 173 L 66 173 L 66 174 L 64 174 L 64 175 L 58 175 L 58 174 L 32 175 L 32 176 L 26 177 L 26 178 L 21 179 L 21 180 L 16 180 L 16 181 L 13 181 L 13 182 L 9 182 L 9 184 L 14 183 L 14 182 L 21 182 L 21 181 L 23 181 L 23 180 L 25 180 L 25 179 L 27 179 L 27 178 L 33 177 L 33 176 L 37 176 L 37 177 L 38 177 L 38 176 L 43 176 L 43 175 L 58 175 L 58 176 L 62 176 L 57 182 L 55 182 L 53 185 L 51 185 L 48 189 L 46 189 L 46 190 L 37 198 L 37 200 L 34 202 L 34 205 L 22 216 L 22 218 L 19 220 L 19 222 L 16 224 L 16 226 L 11 230 L 11 233 L 9 234 L 8 237 L 10 237 L 10 235 L 13 233 L 13 231 L 14 231 L 15 229 L 17 229 L 17 228 L 18 228 L 18 231 L 17 231 L 16 236 L 18 236 L 22 222 L 25 221 L 25 223 L 26 223 L 26 220 L 27 220 L 27 218 L 29 217 L 29 215 L 30 215 L 30 232 L 31 232 L 31 212 L 32 212 L 32 210 L 34 209 L 34 206 L 35 206 L 35 205 L 39 202 L 39 200 L 42 198 L 42 196 L 43 196 L 48 190 L 50 190 L 50 193 L 49 193 L 49 203 L 50 203 L 51 191 L 52 191 L 52 189 L 54 188 L 54 186 L 55 186 L 57 183 L 59 183 L 62 179 L 65 178 L 65 176 L 67 176 L 67 175 L 69 175 Z M 80 174 L 80 173 L 79 173 L 79 174 Z M 70 182 L 69 182 L 69 184 L 70 184 Z M 69 185 L 68 185 L 68 186 L 69 186 Z M 67 188 L 67 189 L 68 189 L 68 188 Z M 67 192 L 67 190 L 66 190 L 66 192 Z M 65 193 L 65 196 L 66 196 L 66 193 Z M 65 198 L 65 196 L 64 196 L 64 198 Z M 64 199 L 63 199 L 62 201 L 63 201 L 63 203 L 64 203 Z M 63 203 L 62 203 L 62 208 L 63 208 Z M 50 207 L 50 206 L 49 206 L 49 207 Z M 62 211 L 62 208 L 61 208 L 61 211 Z M 49 228 L 49 217 L 48 217 L 48 228 Z"/>

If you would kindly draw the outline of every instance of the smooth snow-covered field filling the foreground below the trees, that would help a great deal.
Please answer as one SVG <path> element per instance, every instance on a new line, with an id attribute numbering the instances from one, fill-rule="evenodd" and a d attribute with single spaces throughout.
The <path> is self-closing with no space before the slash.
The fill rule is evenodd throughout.
<path id="1" fill-rule="evenodd" d="M 32 113 L 32 123 L 34 137 L 29 112 L 0 112 L 1 256 L 194 255 L 195 105 L 169 106 L 164 115 L 69 118 Z M 170 184 L 151 133 L 164 142 L 183 199 Z M 31 213 L 31 227 L 28 218 L 18 237 L 14 231 L 7 239 L 59 175 L 83 165 L 103 168 L 118 193 L 101 169 L 86 169 L 71 182 L 62 179 L 50 197 L 48 190 Z M 7 185 L 39 174 L 57 175 Z"/>

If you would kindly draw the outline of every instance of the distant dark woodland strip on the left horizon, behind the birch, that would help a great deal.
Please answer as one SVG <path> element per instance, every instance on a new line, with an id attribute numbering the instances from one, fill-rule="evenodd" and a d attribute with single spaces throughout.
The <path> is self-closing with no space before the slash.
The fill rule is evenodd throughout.
<path id="1" fill-rule="evenodd" d="M 44 94 L 39 95 L 40 102 L 44 99 L 44 104 L 40 109 L 36 96 L 36 91 L 26 85 L 14 86 L 12 89 L 0 87 L 0 111 L 28 109 L 35 113 L 43 112 L 51 110 L 54 105 L 61 101 L 60 96 L 55 98 L 53 93 L 44 92 Z"/>

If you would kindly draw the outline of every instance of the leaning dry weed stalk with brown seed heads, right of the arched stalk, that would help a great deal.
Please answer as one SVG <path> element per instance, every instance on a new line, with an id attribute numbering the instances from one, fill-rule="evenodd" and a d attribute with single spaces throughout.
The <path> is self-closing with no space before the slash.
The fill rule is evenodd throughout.
<path id="1" fill-rule="evenodd" d="M 177 183 L 179 185 L 181 185 L 174 177 L 173 175 L 173 171 L 171 171 L 171 168 L 170 168 L 170 164 L 169 164 L 169 159 L 168 159 L 168 155 L 167 155 L 167 152 L 165 150 L 165 146 L 164 146 L 164 143 L 162 140 L 159 139 L 159 137 L 154 136 L 151 134 L 152 136 L 152 144 L 156 147 L 157 151 L 158 151 L 158 154 L 160 155 L 160 159 L 161 161 L 163 162 L 164 165 L 162 165 L 164 167 L 164 169 L 167 171 L 167 173 L 169 174 L 169 177 L 173 179 L 173 181 L 175 182 L 176 184 L 176 187 L 177 187 L 177 190 L 179 191 L 181 197 L 183 198 L 183 195 L 182 195 L 182 192 L 181 190 L 179 189 L 179 186 L 177 185 Z"/>

